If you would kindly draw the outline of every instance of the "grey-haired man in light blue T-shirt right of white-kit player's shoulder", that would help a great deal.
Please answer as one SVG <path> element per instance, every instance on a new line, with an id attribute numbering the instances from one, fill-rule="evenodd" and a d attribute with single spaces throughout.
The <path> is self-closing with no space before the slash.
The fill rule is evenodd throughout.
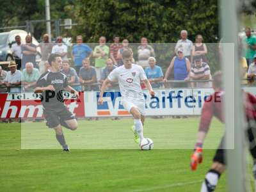
<path id="1" fill-rule="evenodd" d="M 159 88 L 163 85 L 163 71 L 162 68 L 156 65 L 156 59 L 154 57 L 148 58 L 149 67 L 145 68 L 145 73 L 148 81 L 153 88 Z"/>

